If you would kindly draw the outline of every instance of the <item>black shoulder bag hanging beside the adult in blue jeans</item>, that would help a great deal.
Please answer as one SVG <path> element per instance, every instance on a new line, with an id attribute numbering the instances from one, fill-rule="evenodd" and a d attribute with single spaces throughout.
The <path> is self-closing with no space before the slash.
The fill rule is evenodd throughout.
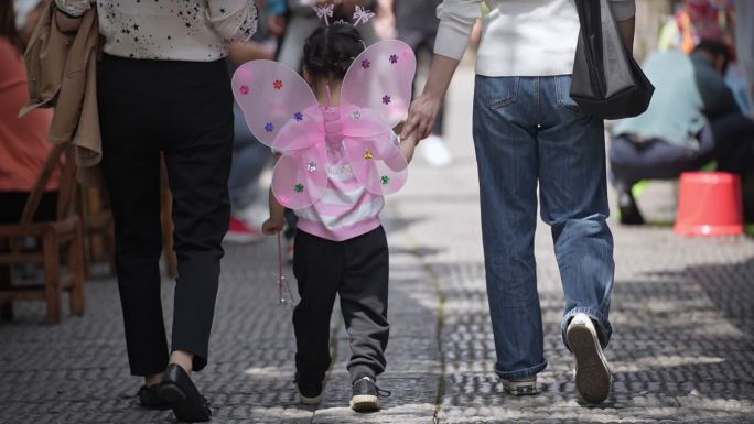
<path id="1" fill-rule="evenodd" d="M 581 22 L 571 98 L 603 119 L 642 115 L 655 87 L 628 54 L 607 0 L 574 0 Z"/>

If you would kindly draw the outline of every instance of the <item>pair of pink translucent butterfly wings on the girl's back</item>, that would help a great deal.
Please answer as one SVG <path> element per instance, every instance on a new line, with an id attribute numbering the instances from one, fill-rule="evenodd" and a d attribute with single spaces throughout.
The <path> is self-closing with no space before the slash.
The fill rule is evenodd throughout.
<path id="1" fill-rule="evenodd" d="M 406 182 L 408 165 L 392 127 L 408 111 L 414 72 L 411 48 L 387 41 L 366 48 L 344 78 L 342 148 L 354 176 L 371 193 L 395 193 Z M 274 196 L 291 209 L 315 204 L 327 186 L 328 155 L 323 108 L 309 85 L 271 61 L 241 65 L 231 84 L 254 135 L 282 152 L 272 174 Z"/>

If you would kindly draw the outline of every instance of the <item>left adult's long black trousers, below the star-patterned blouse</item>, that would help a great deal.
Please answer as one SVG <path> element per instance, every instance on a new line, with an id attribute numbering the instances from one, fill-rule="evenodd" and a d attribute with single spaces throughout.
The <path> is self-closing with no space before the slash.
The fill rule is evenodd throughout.
<path id="1" fill-rule="evenodd" d="M 116 228 L 116 270 L 131 373 L 168 365 L 160 302 L 160 152 L 173 194 L 175 285 L 172 350 L 207 363 L 228 229 L 233 94 L 223 61 L 106 56 L 97 95 L 103 170 Z"/>

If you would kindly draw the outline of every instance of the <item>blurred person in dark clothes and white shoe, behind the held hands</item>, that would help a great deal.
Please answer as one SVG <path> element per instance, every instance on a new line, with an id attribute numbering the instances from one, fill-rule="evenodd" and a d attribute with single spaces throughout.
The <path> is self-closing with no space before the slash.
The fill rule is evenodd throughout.
<path id="1" fill-rule="evenodd" d="M 379 0 L 375 28 L 383 39 L 403 41 L 417 55 L 419 77 L 414 79 L 414 93 L 423 89 L 429 68 L 432 64 L 432 50 L 438 34 L 440 20 L 435 10 L 442 0 Z M 432 134 L 419 144 L 424 160 L 434 166 L 451 163 L 452 155 L 444 140 L 444 100 L 432 128 Z"/>

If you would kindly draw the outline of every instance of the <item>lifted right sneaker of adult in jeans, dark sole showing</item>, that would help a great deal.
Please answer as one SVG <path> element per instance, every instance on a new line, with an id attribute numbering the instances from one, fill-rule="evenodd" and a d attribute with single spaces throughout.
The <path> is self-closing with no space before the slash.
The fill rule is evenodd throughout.
<path id="1" fill-rule="evenodd" d="M 575 314 L 566 330 L 566 339 L 577 361 L 575 384 L 579 394 L 589 403 L 601 403 L 610 394 L 613 377 L 592 319 L 586 314 Z"/>

